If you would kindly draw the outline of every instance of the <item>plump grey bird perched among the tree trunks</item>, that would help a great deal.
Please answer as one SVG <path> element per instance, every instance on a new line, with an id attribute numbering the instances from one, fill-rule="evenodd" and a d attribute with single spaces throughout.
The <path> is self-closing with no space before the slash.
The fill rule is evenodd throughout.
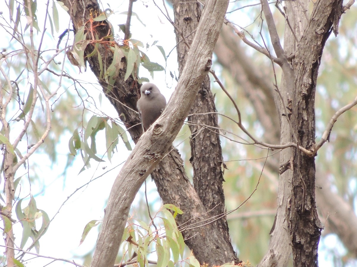
<path id="1" fill-rule="evenodd" d="M 143 84 L 140 91 L 141 96 L 137 101 L 136 107 L 139 110 L 141 125 L 145 132 L 164 111 L 166 99 L 153 83 Z"/>

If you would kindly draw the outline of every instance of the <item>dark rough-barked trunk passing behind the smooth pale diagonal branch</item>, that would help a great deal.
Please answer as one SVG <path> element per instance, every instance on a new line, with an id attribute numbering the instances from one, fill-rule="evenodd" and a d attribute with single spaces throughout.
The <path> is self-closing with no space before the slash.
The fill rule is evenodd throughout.
<path id="1" fill-rule="evenodd" d="M 181 0 L 172 1 L 175 33 L 177 44 L 177 61 L 179 73 L 186 64 L 189 46 L 195 36 L 196 28 L 201 17 L 198 2 Z M 223 194 L 223 157 L 218 132 L 218 116 L 216 106 L 210 90 L 208 75 L 198 90 L 195 103 L 188 116 L 188 127 L 191 131 L 190 162 L 193 167 L 193 186 L 209 215 L 215 219 L 217 227 L 227 244 L 224 245 L 226 255 L 230 261 L 237 262 L 237 258 L 230 242 L 228 224 L 225 213 L 225 197 Z M 206 149 L 208 148 L 208 149 Z"/>

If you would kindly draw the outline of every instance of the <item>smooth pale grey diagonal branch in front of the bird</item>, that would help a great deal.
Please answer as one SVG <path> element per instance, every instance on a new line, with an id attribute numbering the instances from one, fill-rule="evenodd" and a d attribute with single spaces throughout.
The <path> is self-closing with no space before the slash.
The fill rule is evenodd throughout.
<path id="1" fill-rule="evenodd" d="M 162 116 L 142 135 L 118 174 L 105 210 L 91 266 L 114 264 L 130 205 L 147 176 L 154 170 L 176 137 L 212 64 L 212 52 L 228 1 L 209 0 L 203 10 L 188 61 Z"/>

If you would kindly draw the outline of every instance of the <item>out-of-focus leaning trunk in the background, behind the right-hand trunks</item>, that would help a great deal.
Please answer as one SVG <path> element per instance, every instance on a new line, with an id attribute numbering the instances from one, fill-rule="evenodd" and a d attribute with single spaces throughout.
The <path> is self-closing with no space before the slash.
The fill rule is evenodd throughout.
<path id="1" fill-rule="evenodd" d="M 294 13 L 302 19 L 305 17 L 303 10 Z M 294 26 L 294 20 L 291 16 L 290 21 Z M 294 38 L 291 32 L 287 31 L 286 35 L 286 39 Z M 252 66 L 246 53 L 246 47 L 243 47 L 240 43 L 241 40 L 238 35 L 230 27 L 223 25 L 214 50 L 217 61 L 228 69 L 232 78 L 235 79 L 237 84 L 240 84 L 243 93 L 251 102 L 258 120 L 265 129 L 264 138 L 266 141 L 272 144 L 279 143 L 280 127 L 277 126 L 280 122 L 278 116 L 276 116 L 276 107 L 272 105 L 274 89 L 270 85 L 270 80 L 264 76 L 264 73 L 260 72 L 265 68 Z M 287 47 L 285 47 L 285 50 L 287 50 Z M 295 51 L 295 48 L 288 52 L 292 53 L 293 51 Z M 278 163 L 275 158 L 272 160 L 269 157 L 266 167 L 277 173 L 279 170 Z M 325 172 L 319 166 L 316 166 L 316 203 L 320 220 L 324 224 L 324 231 L 337 234 L 348 251 L 354 257 L 357 257 L 357 216 L 351 205 L 331 190 L 332 185 L 326 181 L 326 178 L 324 178 L 326 176 L 327 174 L 325 175 Z M 271 243 L 274 242 L 271 241 Z"/>

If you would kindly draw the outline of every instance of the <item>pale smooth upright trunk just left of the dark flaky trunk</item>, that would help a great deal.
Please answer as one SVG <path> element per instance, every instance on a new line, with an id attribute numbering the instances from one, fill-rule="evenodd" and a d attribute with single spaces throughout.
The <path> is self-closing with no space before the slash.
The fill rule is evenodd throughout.
<path id="1" fill-rule="evenodd" d="M 286 57 L 286 55 L 290 55 L 296 51 L 297 40 L 296 38 L 301 38 L 303 34 L 303 30 L 307 25 L 307 21 L 304 15 L 304 3 L 306 1 L 301 2 L 302 5 L 299 6 L 294 3 L 292 7 L 291 3 L 288 3 L 290 12 L 287 13 L 287 18 L 290 23 L 288 26 L 287 22 L 285 23 L 285 33 L 284 33 L 284 55 L 281 57 Z M 265 16 L 266 12 L 264 13 Z M 269 23 L 269 22 L 267 22 Z M 291 29 L 290 29 L 291 27 Z M 271 31 L 271 29 L 269 29 Z M 286 41 L 288 40 L 288 41 Z M 275 48 L 275 47 L 274 47 Z M 277 52 L 277 55 L 279 52 Z M 285 58 L 285 65 L 287 60 Z M 286 114 L 286 110 L 290 108 L 288 106 L 289 95 L 292 95 L 295 90 L 294 87 L 294 73 L 292 69 L 286 70 L 288 67 L 283 69 L 281 86 L 279 88 L 281 97 L 278 94 L 275 94 L 275 103 L 277 106 L 277 110 L 280 116 L 280 143 L 288 143 L 288 142 L 296 142 L 296 140 L 292 140 L 292 129 L 290 127 L 288 119 L 292 119 L 291 114 Z M 295 103 L 294 103 L 295 104 Z M 294 116 L 300 116 L 298 113 L 294 113 Z M 295 132 L 295 131 L 294 131 Z M 280 152 L 280 166 L 283 166 L 287 162 L 291 162 L 292 158 L 295 155 L 295 149 L 288 148 Z M 295 162 L 297 159 L 295 159 Z M 290 163 L 289 163 L 290 164 Z M 300 164 L 300 163 L 298 163 Z M 293 176 L 297 175 L 293 174 L 291 170 L 287 170 L 280 174 L 279 177 L 279 185 L 278 185 L 278 198 L 277 198 L 277 214 L 275 218 L 275 224 L 273 225 L 271 231 L 271 240 L 269 244 L 270 251 L 265 255 L 263 260 L 261 261 L 261 266 L 270 266 L 271 264 L 275 264 L 275 266 L 286 266 L 287 262 L 290 260 L 290 255 L 292 253 L 292 241 L 290 237 L 290 233 L 286 230 L 289 228 L 289 221 L 286 214 L 286 211 L 290 208 L 290 194 L 292 192 L 292 179 Z M 273 253 L 270 253 L 270 252 Z"/>

